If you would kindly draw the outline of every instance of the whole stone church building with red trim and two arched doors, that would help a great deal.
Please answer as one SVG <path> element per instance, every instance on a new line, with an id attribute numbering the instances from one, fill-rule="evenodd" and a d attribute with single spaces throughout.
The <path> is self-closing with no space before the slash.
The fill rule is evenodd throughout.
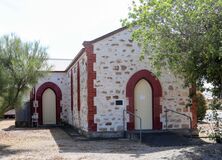
<path id="1" fill-rule="evenodd" d="M 140 47 L 131 31 L 120 28 L 83 42 L 64 71 L 39 80 L 31 96 L 31 114 L 39 125 L 66 122 L 88 136 L 120 136 L 125 130 L 196 128 L 196 110 L 186 107 L 190 88 L 168 70 L 155 76 L 149 58 L 140 61 Z M 136 116 L 135 116 L 136 115 Z"/>

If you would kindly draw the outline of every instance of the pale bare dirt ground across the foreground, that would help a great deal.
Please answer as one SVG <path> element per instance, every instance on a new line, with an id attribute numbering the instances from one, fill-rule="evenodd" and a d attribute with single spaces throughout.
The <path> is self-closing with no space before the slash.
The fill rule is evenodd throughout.
<path id="1" fill-rule="evenodd" d="M 222 160 L 221 144 L 150 147 L 119 140 L 81 141 L 60 128 L 17 129 L 0 121 L 0 159 L 6 160 Z"/>

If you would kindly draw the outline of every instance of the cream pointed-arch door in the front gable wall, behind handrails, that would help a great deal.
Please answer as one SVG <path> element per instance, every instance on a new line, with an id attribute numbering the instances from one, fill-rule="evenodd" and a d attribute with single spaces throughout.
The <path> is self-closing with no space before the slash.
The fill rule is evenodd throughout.
<path id="1" fill-rule="evenodd" d="M 152 88 L 150 84 L 141 79 L 134 89 L 135 114 L 142 119 L 142 129 L 153 128 Z M 135 129 L 140 129 L 140 121 L 135 118 Z"/>

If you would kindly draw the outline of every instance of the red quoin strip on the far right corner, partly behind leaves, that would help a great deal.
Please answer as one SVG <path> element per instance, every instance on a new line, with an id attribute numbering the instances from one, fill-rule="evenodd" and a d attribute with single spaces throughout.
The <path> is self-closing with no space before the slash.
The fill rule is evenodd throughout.
<path id="1" fill-rule="evenodd" d="M 196 94 L 196 87 L 192 85 L 190 88 L 190 95 L 195 95 Z M 192 113 L 192 128 L 196 129 L 197 128 L 197 101 L 195 97 L 192 97 L 192 106 L 190 108 L 190 111 Z"/>

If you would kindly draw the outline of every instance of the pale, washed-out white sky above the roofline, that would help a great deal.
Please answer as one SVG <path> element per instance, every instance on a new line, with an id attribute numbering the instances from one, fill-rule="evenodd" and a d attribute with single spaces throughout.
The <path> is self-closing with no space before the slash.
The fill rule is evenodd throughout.
<path id="1" fill-rule="evenodd" d="M 0 36 L 39 40 L 50 58 L 72 59 L 82 42 L 121 27 L 131 0 L 0 0 Z"/>

